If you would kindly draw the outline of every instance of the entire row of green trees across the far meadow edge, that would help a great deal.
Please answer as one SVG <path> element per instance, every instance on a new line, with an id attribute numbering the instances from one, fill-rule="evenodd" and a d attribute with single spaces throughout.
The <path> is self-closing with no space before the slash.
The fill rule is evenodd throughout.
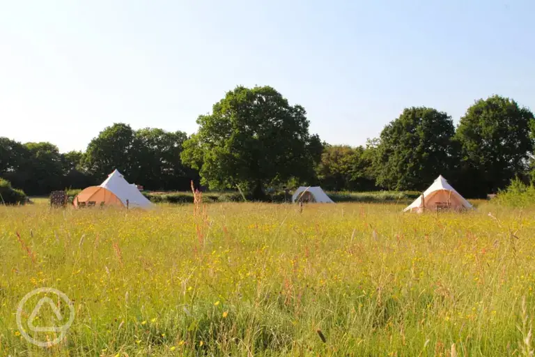
<path id="1" fill-rule="evenodd" d="M 123 123 L 105 128 L 84 153 L 49 143 L 0 138 L 0 176 L 31 195 L 83 188 L 117 168 L 149 190 L 267 188 L 424 190 L 439 174 L 467 197 L 529 178 L 535 121 L 514 100 L 492 96 L 467 109 L 458 126 L 445 112 L 410 107 L 366 146 L 331 146 L 309 133 L 306 111 L 270 86 L 238 86 L 184 132 Z"/>

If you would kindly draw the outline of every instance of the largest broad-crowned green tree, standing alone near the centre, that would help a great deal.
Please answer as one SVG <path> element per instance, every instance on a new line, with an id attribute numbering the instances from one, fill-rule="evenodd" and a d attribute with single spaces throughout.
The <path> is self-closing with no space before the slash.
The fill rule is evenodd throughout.
<path id="1" fill-rule="evenodd" d="M 318 138 L 309 135 L 306 112 L 270 86 L 228 91 L 197 123 L 182 159 L 210 188 L 239 186 L 261 198 L 267 184 L 313 176 Z"/>

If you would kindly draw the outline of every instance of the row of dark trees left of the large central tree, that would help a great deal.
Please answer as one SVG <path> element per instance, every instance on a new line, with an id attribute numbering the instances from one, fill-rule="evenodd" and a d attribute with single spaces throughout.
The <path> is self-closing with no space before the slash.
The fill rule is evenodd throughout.
<path id="1" fill-rule="evenodd" d="M 48 142 L 21 144 L 0 137 L 0 176 L 28 195 L 95 185 L 114 169 L 151 190 L 187 190 L 199 174 L 180 161 L 186 139 L 180 131 L 132 130 L 118 123 L 100 132 L 84 153 L 59 153 Z"/>

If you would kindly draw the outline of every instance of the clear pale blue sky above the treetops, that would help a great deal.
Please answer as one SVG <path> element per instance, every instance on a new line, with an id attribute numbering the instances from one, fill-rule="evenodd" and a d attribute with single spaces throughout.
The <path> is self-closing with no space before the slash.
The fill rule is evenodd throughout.
<path id="1" fill-rule="evenodd" d="M 534 15 L 534 0 L 3 1 L 0 136 L 69 151 L 114 122 L 191 134 L 238 84 L 274 86 L 332 144 L 413 105 L 457 122 L 496 93 L 534 110 Z"/>

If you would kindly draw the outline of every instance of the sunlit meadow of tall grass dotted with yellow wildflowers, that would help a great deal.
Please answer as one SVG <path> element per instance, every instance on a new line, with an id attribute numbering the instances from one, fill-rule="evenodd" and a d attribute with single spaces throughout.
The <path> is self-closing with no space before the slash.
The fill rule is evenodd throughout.
<path id="1" fill-rule="evenodd" d="M 401 208 L 0 207 L 0 354 L 532 353 L 535 211 Z M 26 342 L 15 322 L 38 287 L 63 291 L 75 310 L 48 348 Z M 37 337 L 46 335 L 55 337 Z"/>

